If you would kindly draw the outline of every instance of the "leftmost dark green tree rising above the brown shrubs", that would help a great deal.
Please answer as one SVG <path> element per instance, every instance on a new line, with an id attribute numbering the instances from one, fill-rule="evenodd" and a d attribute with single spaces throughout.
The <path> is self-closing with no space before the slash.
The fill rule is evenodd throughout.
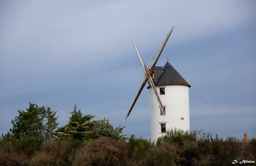
<path id="1" fill-rule="evenodd" d="M 10 129 L 13 137 L 42 137 L 46 141 L 54 139 L 58 123 L 56 112 L 52 112 L 51 108 L 29 103 L 28 109 L 18 112 L 19 116 L 12 120 L 13 128 Z"/>

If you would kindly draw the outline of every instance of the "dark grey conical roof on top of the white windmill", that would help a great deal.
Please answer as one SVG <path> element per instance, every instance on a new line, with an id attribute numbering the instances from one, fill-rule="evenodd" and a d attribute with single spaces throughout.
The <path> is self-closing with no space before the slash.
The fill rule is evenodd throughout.
<path id="1" fill-rule="evenodd" d="M 163 67 L 154 67 L 154 83 L 155 86 L 180 85 L 191 87 L 169 62 L 167 62 Z M 150 85 L 148 88 L 149 87 Z"/>

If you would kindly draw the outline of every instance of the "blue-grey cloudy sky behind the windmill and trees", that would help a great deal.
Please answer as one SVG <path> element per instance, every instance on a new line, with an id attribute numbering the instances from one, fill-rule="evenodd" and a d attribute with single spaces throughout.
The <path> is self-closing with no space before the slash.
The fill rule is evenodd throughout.
<path id="1" fill-rule="evenodd" d="M 125 133 L 150 137 L 148 90 L 125 121 L 148 65 L 175 26 L 166 59 L 191 84 L 191 130 L 256 133 L 255 1 L 0 1 L 0 133 L 28 103 L 76 104 Z"/>

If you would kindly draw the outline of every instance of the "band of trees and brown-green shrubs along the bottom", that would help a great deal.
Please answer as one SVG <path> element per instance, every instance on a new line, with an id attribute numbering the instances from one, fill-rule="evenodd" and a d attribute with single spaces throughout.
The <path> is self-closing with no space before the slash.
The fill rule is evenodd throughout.
<path id="1" fill-rule="evenodd" d="M 231 165 L 256 158 L 256 139 L 171 130 L 151 143 L 134 135 L 126 139 L 124 127 L 83 115 L 76 105 L 61 128 L 55 114 L 31 103 L 19 110 L 1 137 L 0 165 Z"/>

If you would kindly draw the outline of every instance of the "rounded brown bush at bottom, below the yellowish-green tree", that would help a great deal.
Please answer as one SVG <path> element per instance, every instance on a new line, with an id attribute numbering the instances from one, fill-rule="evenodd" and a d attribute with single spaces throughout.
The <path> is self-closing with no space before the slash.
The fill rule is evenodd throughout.
<path id="1" fill-rule="evenodd" d="M 100 137 L 91 140 L 77 151 L 74 165 L 125 165 L 129 159 L 129 145 L 124 140 Z"/>

